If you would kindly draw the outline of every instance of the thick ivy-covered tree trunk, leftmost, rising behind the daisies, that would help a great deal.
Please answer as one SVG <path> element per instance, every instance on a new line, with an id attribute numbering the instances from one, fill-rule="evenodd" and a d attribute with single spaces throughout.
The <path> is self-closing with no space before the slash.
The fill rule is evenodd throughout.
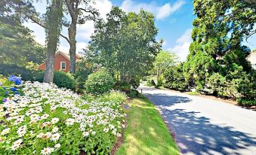
<path id="1" fill-rule="evenodd" d="M 54 81 L 54 56 L 57 48 L 57 41 L 60 36 L 60 25 L 57 21 L 60 21 L 60 18 L 62 17 L 62 14 L 60 14 L 61 7 L 61 0 L 54 0 L 48 13 L 48 43 L 44 76 L 44 82 L 46 83 Z"/>

